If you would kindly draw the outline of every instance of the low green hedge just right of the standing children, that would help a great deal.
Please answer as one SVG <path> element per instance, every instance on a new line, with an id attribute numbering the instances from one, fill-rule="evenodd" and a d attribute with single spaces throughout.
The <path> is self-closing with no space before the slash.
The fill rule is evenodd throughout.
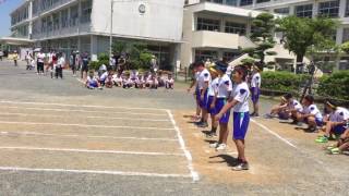
<path id="1" fill-rule="evenodd" d="M 310 75 L 293 74 L 290 72 L 263 72 L 262 89 L 299 94 L 309 78 Z"/>

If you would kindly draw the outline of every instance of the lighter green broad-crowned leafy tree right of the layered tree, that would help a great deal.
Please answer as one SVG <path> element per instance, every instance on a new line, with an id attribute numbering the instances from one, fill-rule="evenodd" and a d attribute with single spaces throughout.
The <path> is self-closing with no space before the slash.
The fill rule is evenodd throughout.
<path id="1" fill-rule="evenodd" d="M 327 17 L 287 16 L 278 20 L 277 24 L 277 30 L 284 34 L 285 47 L 296 53 L 298 64 L 303 63 L 308 51 L 333 47 L 333 36 L 338 26 L 336 20 Z"/>

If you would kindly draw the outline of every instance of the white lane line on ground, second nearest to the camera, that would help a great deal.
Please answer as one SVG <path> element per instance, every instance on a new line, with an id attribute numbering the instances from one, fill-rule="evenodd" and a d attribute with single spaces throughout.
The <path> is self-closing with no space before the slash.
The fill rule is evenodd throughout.
<path id="1" fill-rule="evenodd" d="M 144 151 L 119 151 L 119 150 L 89 150 L 89 149 L 74 149 L 74 148 L 38 148 L 29 146 L 0 146 L 3 150 L 44 150 L 44 151 L 68 151 L 68 152 L 85 152 L 85 154 L 120 154 L 120 155 L 144 155 L 144 156 L 179 156 L 184 157 L 183 154 L 166 154 L 166 152 L 144 152 Z"/>

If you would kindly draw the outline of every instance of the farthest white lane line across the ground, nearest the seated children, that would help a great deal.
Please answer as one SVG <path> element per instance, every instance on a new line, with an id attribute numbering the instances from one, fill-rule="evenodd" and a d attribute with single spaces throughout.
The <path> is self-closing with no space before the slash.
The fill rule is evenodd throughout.
<path id="1" fill-rule="evenodd" d="M 29 102 L 29 101 L 9 101 L 0 100 L 1 103 L 16 103 L 16 105 L 38 105 L 38 106 L 60 106 L 60 107 L 82 107 L 82 108 L 101 108 L 101 109 L 127 109 L 127 110 L 154 110 L 154 111 L 165 111 L 166 109 L 160 108 L 132 108 L 132 107 L 107 107 L 107 106 L 93 106 L 93 105 L 67 105 L 57 102 Z"/>

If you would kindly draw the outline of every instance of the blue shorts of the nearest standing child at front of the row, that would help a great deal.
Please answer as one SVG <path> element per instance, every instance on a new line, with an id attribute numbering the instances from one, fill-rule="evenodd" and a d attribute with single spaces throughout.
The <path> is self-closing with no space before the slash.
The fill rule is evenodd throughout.
<path id="1" fill-rule="evenodd" d="M 233 112 L 232 136 L 233 139 L 244 139 L 249 130 L 250 113 Z"/>

